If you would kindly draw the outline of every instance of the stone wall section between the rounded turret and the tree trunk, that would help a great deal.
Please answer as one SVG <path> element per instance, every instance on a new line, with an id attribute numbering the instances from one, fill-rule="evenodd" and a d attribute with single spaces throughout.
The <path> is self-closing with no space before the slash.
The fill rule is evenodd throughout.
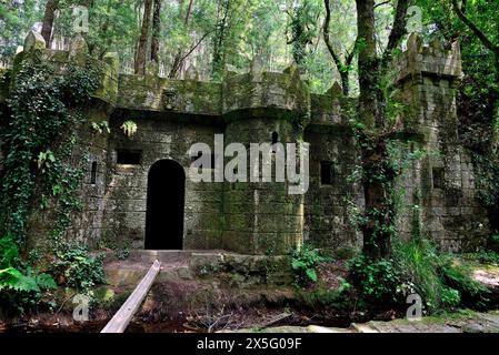
<path id="1" fill-rule="evenodd" d="M 347 111 L 355 100 L 343 98 L 335 84 L 325 95 L 312 95 L 311 102 L 311 123 L 305 130 L 310 143 L 310 189 L 303 239 L 318 247 L 359 247 L 361 235 L 350 216 L 353 205 L 362 209 L 363 194 L 352 182 L 360 161 Z"/>

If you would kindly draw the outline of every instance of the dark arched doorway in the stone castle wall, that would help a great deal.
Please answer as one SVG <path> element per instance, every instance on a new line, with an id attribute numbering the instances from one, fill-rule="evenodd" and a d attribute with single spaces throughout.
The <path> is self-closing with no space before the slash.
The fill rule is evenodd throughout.
<path id="1" fill-rule="evenodd" d="M 148 176 L 146 248 L 181 250 L 186 172 L 172 160 L 152 164 Z"/>

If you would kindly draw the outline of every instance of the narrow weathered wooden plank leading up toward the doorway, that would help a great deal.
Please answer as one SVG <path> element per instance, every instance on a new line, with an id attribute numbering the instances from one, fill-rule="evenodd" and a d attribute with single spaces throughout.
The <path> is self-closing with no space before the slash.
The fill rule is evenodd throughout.
<path id="1" fill-rule="evenodd" d="M 137 285 L 136 290 L 131 293 L 128 300 L 123 303 L 121 308 L 114 314 L 114 316 L 109 321 L 109 323 L 104 326 L 104 328 L 100 333 L 123 333 L 130 323 L 133 314 L 139 310 L 142 304 L 146 295 L 152 286 L 152 283 L 158 276 L 158 273 L 161 268 L 161 263 L 159 261 L 154 261 L 152 266 L 149 268 L 146 276 L 143 276 L 142 281 Z"/>

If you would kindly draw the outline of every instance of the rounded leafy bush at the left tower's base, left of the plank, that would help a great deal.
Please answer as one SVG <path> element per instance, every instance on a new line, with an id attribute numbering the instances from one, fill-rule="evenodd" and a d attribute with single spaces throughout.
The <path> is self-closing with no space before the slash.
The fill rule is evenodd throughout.
<path id="1" fill-rule="evenodd" d="M 67 245 L 56 255 L 52 273 L 59 284 L 88 291 L 96 284 L 106 283 L 103 256 L 90 256 L 87 248 Z"/>

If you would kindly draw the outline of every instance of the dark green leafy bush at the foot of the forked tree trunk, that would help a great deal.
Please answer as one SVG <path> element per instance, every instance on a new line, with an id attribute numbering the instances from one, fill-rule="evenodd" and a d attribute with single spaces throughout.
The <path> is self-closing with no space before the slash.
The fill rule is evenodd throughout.
<path id="1" fill-rule="evenodd" d="M 359 255 L 349 262 L 353 286 L 361 301 L 377 304 L 400 304 L 402 274 L 393 260 L 372 260 Z"/>

